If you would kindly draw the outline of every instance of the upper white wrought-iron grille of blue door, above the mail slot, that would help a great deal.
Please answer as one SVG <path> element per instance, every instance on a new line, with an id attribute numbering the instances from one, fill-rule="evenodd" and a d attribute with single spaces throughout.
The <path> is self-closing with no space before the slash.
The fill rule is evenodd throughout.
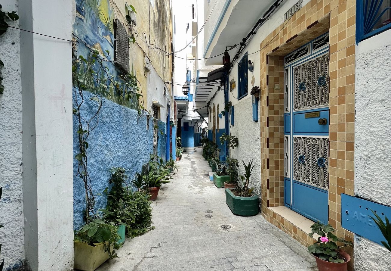
<path id="1" fill-rule="evenodd" d="M 330 55 L 308 60 L 293 68 L 293 109 L 328 105 Z"/>

